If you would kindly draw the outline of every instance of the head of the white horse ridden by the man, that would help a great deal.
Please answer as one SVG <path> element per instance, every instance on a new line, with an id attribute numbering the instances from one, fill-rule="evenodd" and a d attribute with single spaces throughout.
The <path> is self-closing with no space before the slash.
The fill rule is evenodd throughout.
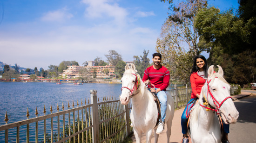
<path id="1" fill-rule="evenodd" d="M 132 63 L 128 63 L 125 66 L 124 74 L 121 78 L 122 82 L 122 93 L 120 96 L 121 104 L 127 105 L 129 103 L 130 98 L 135 95 L 136 90 L 141 84 L 140 75 L 137 74 L 137 70 L 135 69 L 135 65 Z"/>

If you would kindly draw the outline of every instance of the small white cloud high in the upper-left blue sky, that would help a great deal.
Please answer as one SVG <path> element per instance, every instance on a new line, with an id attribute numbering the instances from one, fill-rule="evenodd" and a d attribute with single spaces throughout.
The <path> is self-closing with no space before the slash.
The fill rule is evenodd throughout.
<path id="1" fill-rule="evenodd" d="M 63 22 L 65 20 L 71 19 L 73 14 L 67 12 L 67 8 L 62 8 L 53 12 L 47 12 L 41 17 L 42 21 L 47 22 Z"/>

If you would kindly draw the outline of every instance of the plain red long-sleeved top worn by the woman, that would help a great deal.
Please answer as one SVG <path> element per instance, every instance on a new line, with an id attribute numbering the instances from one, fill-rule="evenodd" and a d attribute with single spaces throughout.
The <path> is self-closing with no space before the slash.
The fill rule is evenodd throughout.
<path id="1" fill-rule="evenodd" d="M 197 98 L 196 94 L 200 95 L 202 86 L 204 85 L 205 81 L 206 80 L 199 76 L 197 72 L 194 72 L 190 75 L 190 83 L 192 88 L 191 99 Z"/>

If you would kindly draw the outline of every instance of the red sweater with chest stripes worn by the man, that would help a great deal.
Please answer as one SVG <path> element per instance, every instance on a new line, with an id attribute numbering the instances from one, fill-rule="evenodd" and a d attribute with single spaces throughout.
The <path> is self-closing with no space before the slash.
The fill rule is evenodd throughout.
<path id="1" fill-rule="evenodd" d="M 142 81 L 144 82 L 148 79 L 156 88 L 165 90 L 169 86 L 170 72 L 162 65 L 158 69 L 150 66 L 145 70 Z"/>

